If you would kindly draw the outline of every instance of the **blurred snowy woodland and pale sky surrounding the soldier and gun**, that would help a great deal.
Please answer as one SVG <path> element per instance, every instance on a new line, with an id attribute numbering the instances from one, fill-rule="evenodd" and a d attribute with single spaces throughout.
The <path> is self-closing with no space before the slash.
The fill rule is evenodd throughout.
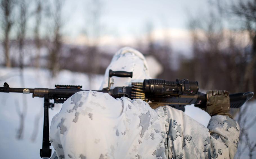
<path id="1" fill-rule="evenodd" d="M 152 78 L 256 92 L 255 0 L 1 0 L 0 19 L 1 85 L 97 90 L 113 54 L 131 46 Z M 1 93 L 0 103 L 0 158 L 40 158 L 43 99 Z M 255 107 L 232 110 L 241 129 L 235 158 L 256 156 Z M 205 126 L 210 119 L 194 106 L 185 113 Z"/>

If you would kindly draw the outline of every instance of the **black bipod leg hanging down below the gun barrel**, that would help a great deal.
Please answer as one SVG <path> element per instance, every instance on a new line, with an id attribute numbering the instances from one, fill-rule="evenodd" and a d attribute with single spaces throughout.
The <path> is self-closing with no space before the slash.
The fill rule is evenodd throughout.
<path id="1" fill-rule="evenodd" d="M 41 158 L 50 158 L 51 157 L 51 143 L 49 141 L 49 105 L 50 99 L 49 95 L 44 95 L 44 128 L 43 128 L 43 143 L 42 149 L 40 149 Z"/>

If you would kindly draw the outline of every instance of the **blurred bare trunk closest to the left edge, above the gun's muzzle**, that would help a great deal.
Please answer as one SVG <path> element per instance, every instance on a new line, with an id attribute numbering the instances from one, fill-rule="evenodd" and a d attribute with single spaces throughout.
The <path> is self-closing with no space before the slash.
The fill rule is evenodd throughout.
<path id="1" fill-rule="evenodd" d="M 12 19 L 12 12 L 14 8 L 14 1 L 13 0 L 1 0 L 1 10 L 3 12 L 2 15 L 2 26 L 1 28 L 4 31 L 4 40 L 3 40 L 3 47 L 5 52 L 5 66 L 11 67 L 11 59 L 9 54 L 9 47 L 10 47 L 10 31 L 14 24 Z"/>

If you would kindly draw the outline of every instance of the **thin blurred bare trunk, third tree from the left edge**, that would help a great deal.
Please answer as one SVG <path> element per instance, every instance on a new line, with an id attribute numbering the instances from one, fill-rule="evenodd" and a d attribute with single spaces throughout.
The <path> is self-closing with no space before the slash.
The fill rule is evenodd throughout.
<path id="1" fill-rule="evenodd" d="M 40 26 L 41 26 L 41 19 L 42 19 L 42 2 L 41 0 L 37 0 L 37 7 L 35 10 L 35 29 L 34 29 L 34 38 L 35 38 L 35 45 L 37 48 L 37 55 L 35 58 L 35 66 L 36 68 L 40 67 L 40 48 L 41 48 L 41 39 L 40 39 Z"/>

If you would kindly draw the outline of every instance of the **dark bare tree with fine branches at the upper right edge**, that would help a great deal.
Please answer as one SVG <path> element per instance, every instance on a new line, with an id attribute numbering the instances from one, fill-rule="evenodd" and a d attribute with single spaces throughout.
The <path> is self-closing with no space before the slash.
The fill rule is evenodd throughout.
<path id="1" fill-rule="evenodd" d="M 224 15 L 226 20 L 234 19 L 234 24 L 240 30 L 248 32 L 250 43 L 246 50 L 246 68 L 243 75 L 243 91 L 256 90 L 256 1 L 218 1 L 217 7 L 219 12 Z M 237 26 L 238 24 L 238 26 Z M 250 51 L 249 51 L 250 50 Z"/>

